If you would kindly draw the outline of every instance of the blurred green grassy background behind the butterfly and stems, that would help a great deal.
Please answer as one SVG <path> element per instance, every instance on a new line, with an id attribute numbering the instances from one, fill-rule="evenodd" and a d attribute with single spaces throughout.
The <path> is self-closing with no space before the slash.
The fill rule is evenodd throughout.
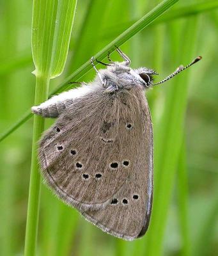
<path id="1" fill-rule="evenodd" d="M 51 90 L 157 3 L 79 0 L 65 72 L 51 81 Z M 0 0 L 0 132 L 33 106 L 32 4 Z M 109 236 L 43 185 L 38 255 L 217 255 L 217 10 L 217 1 L 179 1 L 121 46 L 132 67 L 157 70 L 156 81 L 203 56 L 183 74 L 146 93 L 155 140 L 154 207 L 146 236 L 133 242 Z M 115 52 L 111 58 L 120 60 Z M 92 70 L 82 80 L 94 76 Z M 24 252 L 32 122 L 0 144 L 0 255 L 4 256 Z M 51 124 L 47 120 L 47 127 Z"/>

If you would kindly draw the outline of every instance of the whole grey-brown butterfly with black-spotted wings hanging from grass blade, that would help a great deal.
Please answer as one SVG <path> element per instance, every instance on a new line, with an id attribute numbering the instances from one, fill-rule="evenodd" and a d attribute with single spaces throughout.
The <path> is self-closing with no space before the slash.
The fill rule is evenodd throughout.
<path id="1" fill-rule="evenodd" d="M 93 82 L 31 110 L 58 117 L 38 153 L 52 191 L 103 231 L 133 240 L 145 234 L 152 211 L 153 129 L 144 90 L 155 85 L 157 73 L 130 68 L 129 58 L 117 51 L 123 62 L 98 61 L 107 65 L 98 71 L 91 58 Z"/>

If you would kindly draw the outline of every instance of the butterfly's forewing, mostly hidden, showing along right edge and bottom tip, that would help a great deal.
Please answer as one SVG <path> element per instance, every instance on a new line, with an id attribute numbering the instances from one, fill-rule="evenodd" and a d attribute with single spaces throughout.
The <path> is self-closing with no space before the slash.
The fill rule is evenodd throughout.
<path id="1" fill-rule="evenodd" d="M 111 204 L 106 205 L 104 209 L 81 212 L 87 220 L 105 232 L 126 240 L 133 240 L 145 234 L 152 211 L 153 132 L 147 102 L 141 107 L 143 127 L 140 124 L 134 125 L 134 129 L 139 128 L 136 139 L 139 144 L 134 148 L 137 157 L 132 159 L 127 182 L 118 195 L 113 196 Z"/>

